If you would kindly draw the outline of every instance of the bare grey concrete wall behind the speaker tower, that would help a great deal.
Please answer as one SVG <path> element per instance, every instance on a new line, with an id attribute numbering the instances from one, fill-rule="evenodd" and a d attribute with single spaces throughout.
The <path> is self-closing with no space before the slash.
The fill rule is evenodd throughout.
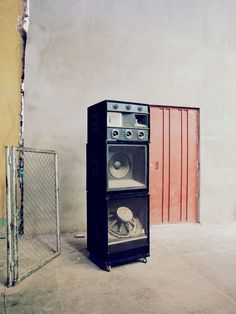
<path id="1" fill-rule="evenodd" d="M 236 2 L 31 1 L 25 143 L 60 159 L 62 229 L 86 222 L 86 108 L 201 108 L 201 222 L 236 220 Z"/>

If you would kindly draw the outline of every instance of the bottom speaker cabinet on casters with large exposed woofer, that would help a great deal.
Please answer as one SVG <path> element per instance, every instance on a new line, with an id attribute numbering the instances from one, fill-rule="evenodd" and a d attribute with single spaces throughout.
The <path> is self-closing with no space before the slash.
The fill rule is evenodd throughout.
<path id="1" fill-rule="evenodd" d="M 149 256 L 149 194 L 90 197 L 88 200 L 88 250 L 99 267 Z"/>

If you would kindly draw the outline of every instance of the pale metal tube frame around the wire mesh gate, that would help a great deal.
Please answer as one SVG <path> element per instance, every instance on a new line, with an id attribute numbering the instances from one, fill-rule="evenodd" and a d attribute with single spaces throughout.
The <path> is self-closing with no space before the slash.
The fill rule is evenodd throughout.
<path id="1" fill-rule="evenodd" d="M 24 274 L 19 274 L 18 258 L 18 222 L 17 222 L 17 153 L 41 153 L 54 155 L 55 164 L 55 204 L 56 204 L 56 252 L 40 263 L 34 265 Z M 37 269 L 43 267 L 49 261 L 60 255 L 60 229 L 59 229 L 59 202 L 58 202 L 58 157 L 53 150 L 40 150 L 23 147 L 6 147 L 6 217 L 7 217 L 7 286 L 14 286 Z"/>

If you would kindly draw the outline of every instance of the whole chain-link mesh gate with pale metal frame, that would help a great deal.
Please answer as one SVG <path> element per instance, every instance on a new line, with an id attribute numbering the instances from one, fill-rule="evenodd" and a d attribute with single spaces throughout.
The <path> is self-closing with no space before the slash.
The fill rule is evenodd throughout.
<path id="1" fill-rule="evenodd" d="M 60 252 L 54 151 L 8 148 L 8 285 Z"/>

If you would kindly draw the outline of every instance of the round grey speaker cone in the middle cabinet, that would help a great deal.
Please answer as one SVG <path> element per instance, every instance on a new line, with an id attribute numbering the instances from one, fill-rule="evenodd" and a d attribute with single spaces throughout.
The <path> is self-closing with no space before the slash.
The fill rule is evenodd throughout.
<path id="1" fill-rule="evenodd" d="M 108 169 L 112 177 L 122 179 L 131 169 L 129 156 L 124 153 L 115 153 L 111 156 Z"/>

